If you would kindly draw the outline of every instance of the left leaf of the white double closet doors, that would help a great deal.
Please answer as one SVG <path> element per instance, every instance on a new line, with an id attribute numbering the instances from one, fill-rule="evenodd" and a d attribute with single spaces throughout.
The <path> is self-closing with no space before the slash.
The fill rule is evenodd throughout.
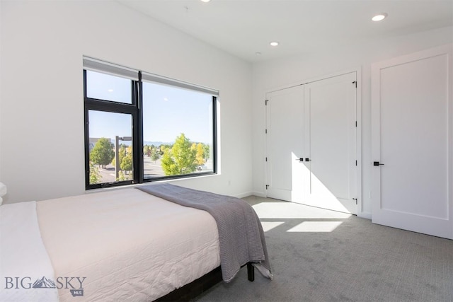
<path id="1" fill-rule="evenodd" d="M 267 196 L 300 201 L 303 196 L 304 86 L 266 95 Z"/>

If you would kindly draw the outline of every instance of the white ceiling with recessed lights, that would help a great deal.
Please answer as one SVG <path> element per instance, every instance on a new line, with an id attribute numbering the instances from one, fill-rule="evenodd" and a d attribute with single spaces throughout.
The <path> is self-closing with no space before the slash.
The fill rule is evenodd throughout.
<path id="1" fill-rule="evenodd" d="M 117 1 L 248 62 L 453 25 L 453 0 Z"/>

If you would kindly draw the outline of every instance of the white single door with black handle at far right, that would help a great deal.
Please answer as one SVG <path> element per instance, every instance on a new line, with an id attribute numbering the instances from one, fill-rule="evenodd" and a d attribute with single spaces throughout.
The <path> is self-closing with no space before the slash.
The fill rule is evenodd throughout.
<path id="1" fill-rule="evenodd" d="M 452 45 L 372 65 L 372 221 L 453 238 Z"/>

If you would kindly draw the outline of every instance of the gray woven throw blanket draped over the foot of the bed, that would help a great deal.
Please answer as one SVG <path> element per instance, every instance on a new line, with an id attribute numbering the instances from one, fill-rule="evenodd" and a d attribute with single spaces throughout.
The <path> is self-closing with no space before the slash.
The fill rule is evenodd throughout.
<path id="1" fill-rule="evenodd" d="M 167 183 L 145 185 L 137 189 L 185 207 L 205 210 L 214 217 L 219 230 L 220 265 L 224 281 L 231 281 L 241 266 L 248 262 L 253 262 L 253 266 L 265 277 L 273 279 L 263 227 L 250 204 L 236 197 Z"/>

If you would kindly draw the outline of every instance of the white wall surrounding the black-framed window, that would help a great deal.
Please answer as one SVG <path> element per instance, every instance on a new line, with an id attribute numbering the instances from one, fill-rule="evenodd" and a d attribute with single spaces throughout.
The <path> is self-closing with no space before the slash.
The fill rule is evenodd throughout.
<path id="1" fill-rule="evenodd" d="M 83 194 L 82 56 L 219 89 L 221 175 L 177 181 L 251 192 L 251 64 L 114 1 L 0 1 L 5 202 Z"/>

